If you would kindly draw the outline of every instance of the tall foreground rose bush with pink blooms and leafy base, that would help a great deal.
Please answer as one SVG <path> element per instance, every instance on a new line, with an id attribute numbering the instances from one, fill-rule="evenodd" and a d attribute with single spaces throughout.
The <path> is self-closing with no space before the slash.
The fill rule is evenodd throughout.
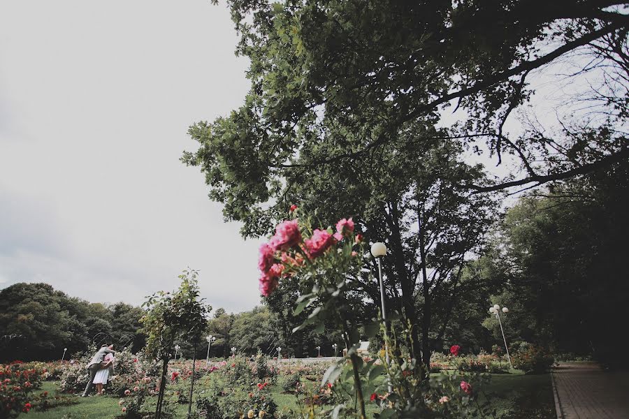
<path id="1" fill-rule="evenodd" d="M 298 209 L 291 208 L 290 213 L 298 216 Z M 275 228 L 275 235 L 260 247 L 261 293 L 268 296 L 282 286 L 280 281 L 293 281 L 300 288 L 294 314 L 310 311 L 307 320 L 294 331 L 308 324 L 315 324 L 322 331 L 325 324 L 342 333 L 348 348 L 345 358 L 326 370 L 318 391 L 311 393 L 308 386 L 292 376 L 286 379 L 287 390 L 295 385 L 298 392 L 305 392 L 302 399 L 305 416 L 366 419 L 366 404 L 376 403 L 380 412 L 375 418 L 436 417 L 435 413 L 439 417 L 487 417 L 489 410 L 479 403 L 474 390 L 481 384 L 478 374 L 464 380 L 457 374 L 428 376 L 421 362 L 408 356 L 412 350 L 398 346 L 395 328 L 391 328 L 390 335 L 383 334 L 388 357 L 384 351 L 377 360 L 363 360 L 359 356 L 359 330 L 373 337 L 383 331 L 382 322 L 366 319 L 366 323 L 356 324 L 357 319 L 363 318 L 356 311 L 362 305 L 360 282 L 356 279 L 370 271 L 364 266 L 363 237 L 354 231 L 351 218 L 338 221 L 335 230 L 312 228 L 309 219 L 282 221 Z M 414 344 L 410 327 L 399 333 L 400 341 Z M 452 355 L 458 355 L 459 349 L 453 346 Z M 383 372 L 384 383 L 379 380 Z M 384 390 L 387 387 L 391 390 Z M 337 404 L 315 411 L 314 406 L 320 404 L 321 389 L 330 392 L 329 399 Z M 249 411 L 246 415 L 253 417 L 254 413 Z"/>

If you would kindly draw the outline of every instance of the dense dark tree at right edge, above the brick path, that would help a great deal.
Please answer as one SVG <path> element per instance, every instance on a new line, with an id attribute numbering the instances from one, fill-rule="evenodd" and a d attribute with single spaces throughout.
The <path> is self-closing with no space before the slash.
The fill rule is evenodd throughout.
<path id="1" fill-rule="evenodd" d="M 626 237 L 629 164 L 531 193 L 500 231 L 509 272 L 503 304 L 515 337 L 558 352 L 621 360 L 617 331 L 629 302 Z"/>

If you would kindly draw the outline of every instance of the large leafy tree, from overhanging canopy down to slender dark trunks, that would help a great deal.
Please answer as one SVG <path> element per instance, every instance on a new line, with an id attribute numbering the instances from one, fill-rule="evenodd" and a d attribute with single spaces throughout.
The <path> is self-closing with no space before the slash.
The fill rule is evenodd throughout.
<path id="1" fill-rule="evenodd" d="M 229 1 L 251 88 L 229 116 L 191 126 L 200 146 L 182 161 L 201 166 L 210 198 L 224 203 L 227 220 L 243 221 L 245 236 L 265 235 L 298 203 L 324 225 L 354 216 L 371 240 L 386 240 L 390 306 L 417 326 L 411 339 L 421 335 L 427 363 L 435 297 L 452 308 L 464 259 L 491 221 L 491 198 L 479 192 L 629 155 L 619 128 L 629 68 L 622 5 Z M 608 81 L 588 97 L 605 118 L 574 123 L 576 131 L 562 121 L 554 135 L 530 123 L 509 137 L 507 119 L 533 94 L 530 77 L 577 54 L 588 59 L 575 78 Z M 463 118 L 436 128 L 453 103 Z M 498 163 L 512 154 L 522 172 L 488 179 L 461 160 L 482 150 Z M 377 302 L 374 281 L 363 280 Z"/>

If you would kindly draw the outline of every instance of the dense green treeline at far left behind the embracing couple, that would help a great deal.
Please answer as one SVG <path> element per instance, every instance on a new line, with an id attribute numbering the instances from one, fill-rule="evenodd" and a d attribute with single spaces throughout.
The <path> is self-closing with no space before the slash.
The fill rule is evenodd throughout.
<path id="1" fill-rule="evenodd" d="M 48 284 L 13 284 L 0 291 L 0 330 L 14 335 L 0 342 L 0 360 L 66 359 L 92 344 L 129 346 L 144 342 L 143 311 L 119 302 L 90 303 L 68 297 Z"/>

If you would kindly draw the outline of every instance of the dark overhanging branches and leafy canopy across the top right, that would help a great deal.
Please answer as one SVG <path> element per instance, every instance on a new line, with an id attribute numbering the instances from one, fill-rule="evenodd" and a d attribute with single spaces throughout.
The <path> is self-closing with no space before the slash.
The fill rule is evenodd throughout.
<path id="1" fill-rule="evenodd" d="M 523 170 L 516 179 L 465 184 L 473 190 L 549 182 L 629 156 L 619 131 L 629 80 L 622 1 L 228 3 L 241 35 L 237 53 L 251 61 L 251 89 L 229 117 L 198 128 L 211 129 L 216 140 L 204 145 L 214 156 L 203 164 L 217 186 L 213 196 L 229 202 L 229 219 L 259 216 L 259 198 L 276 196 L 284 179 L 299 176 L 298 167 L 352 164 L 359 156 L 377 161 L 380 147 L 396 142 L 407 124 L 434 123 L 455 103 L 464 120 L 434 138 L 465 138 L 498 162 L 512 154 Z M 571 152 L 591 138 L 528 131 L 511 138 L 505 129 L 533 94 L 530 78 L 567 60 L 577 66 L 568 82 L 588 82 L 588 98 L 607 116 L 590 128 L 612 133 L 611 143 L 588 149 L 586 161 L 571 159 Z M 345 128 L 335 133 L 339 147 L 303 158 L 332 123 Z M 558 156 L 561 166 L 535 163 Z M 195 157 L 185 159 L 201 163 Z"/>

